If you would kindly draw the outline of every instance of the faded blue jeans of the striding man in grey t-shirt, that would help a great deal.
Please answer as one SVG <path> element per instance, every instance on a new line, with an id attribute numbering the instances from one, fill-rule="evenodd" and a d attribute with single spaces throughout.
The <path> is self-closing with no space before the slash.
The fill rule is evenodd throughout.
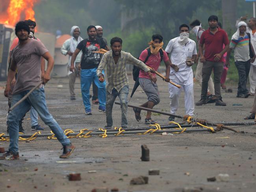
<path id="1" fill-rule="evenodd" d="M 29 90 L 22 91 L 18 94 L 13 95 L 13 101 L 11 105 L 13 106 L 17 103 L 23 96 L 25 96 Z M 70 140 L 63 133 L 63 130 L 56 122 L 56 120 L 49 113 L 45 101 L 45 90 L 43 88 L 35 89 L 29 96 L 21 102 L 17 107 L 9 113 L 8 116 L 8 126 L 9 126 L 9 137 L 10 145 L 9 151 L 13 153 L 18 153 L 19 146 L 19 121 L 20 119 L 30 110 L 31 106 L 35 108 L 43 122 L 50 127 L 52 132 L 56 135 L 59 142 L 63 146 L 70 144 Z"/>

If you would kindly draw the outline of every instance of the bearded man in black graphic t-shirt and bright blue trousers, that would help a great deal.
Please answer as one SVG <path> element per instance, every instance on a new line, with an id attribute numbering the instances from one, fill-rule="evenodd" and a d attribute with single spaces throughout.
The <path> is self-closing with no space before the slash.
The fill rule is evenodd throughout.
<path id="1" fill-rule="evenodd" d="M 101 54 L 97 51 L 100 48 L 107 49 L 106 43 L 102 38 L 96 38 L 96 27 L 89 26 L 87 28 L 88 39 L 81 41 L 72 55 L 70 71 L 74 71 L 74 61 L 76 56 L 82 50 L 82 59 L 81 59 L 81 92 L 83 98 L 83 104 L 85 107 L 85 114 L 90 115 L 91 113 L 91 104 L 90 104 L 90 87 L 92 81 L 95 82 L 98 87 L 98 100 L 99 100 L 99 111 L 105 113 L 106 111 L 106 83 L 100 83 L 96 75 L 96 69 L 100 63 Z"/>

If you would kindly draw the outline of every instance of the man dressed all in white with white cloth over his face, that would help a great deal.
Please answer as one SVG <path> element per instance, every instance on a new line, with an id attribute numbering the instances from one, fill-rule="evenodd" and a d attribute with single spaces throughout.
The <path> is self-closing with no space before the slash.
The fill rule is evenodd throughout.
<path id="1" fill-rule="evenodd" d="M 179 71 L 171 68 L 170 79 L 182 87 L 179 89 L 178 87 L 169 85 L 171 113 L 176 114 L 179 105 L 178 99 L 182 89 L 184 89 L 186 114 L 193 116 L 195 105 L 193 71 L 191 66 L 197 57 L 197 46 L 195 41 L 189 39 L 189 26 L 182 24 L 179 30 L 180 36 L 171 39 L 165 48 L 167 54 L 170 54 L 171 63 L 178 65 L 180 68 Z M 174 116 L 170 116 L 169 120 L 173 121 Z"/>

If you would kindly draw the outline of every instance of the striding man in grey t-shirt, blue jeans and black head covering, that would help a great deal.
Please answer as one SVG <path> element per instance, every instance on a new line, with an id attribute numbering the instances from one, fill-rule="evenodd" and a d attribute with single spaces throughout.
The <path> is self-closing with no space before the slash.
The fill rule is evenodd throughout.
<path id="1" fill-rule="evenodd" d="M 11 81 L 18 69 L 17 83 L 13 89 L 13 100 L 11 105 L 19 102 L 33 87 L 38 86 L 41 82 L 41 56 L 48 61 L 47 70 L 43 75 L 43 82 L 50 80 L 50 72 L 54 65 L 54 59 L 43 43 L 34 39 L 29 39 L 29 26 L 24 21 L 16 24 L 15 34 L 19 38 L 19 45 L 13 49 L 11 66 L 7 76 L 6 89 L 4 95 L 8 97 L 11 93 Z M 15 107 L 8 117 L 9 126 L 9 151 L 0 157 L 1 160 L 19 159 L 19 120 L 30 110 L 31 106 L 39 113 L 43 122 L 50 127 L 53 133 L 63 145 L 63 154 L 60 158 L 67 158 L 74 150 L 74 146 L 63 133 L 59 124 L 49 113 L 45 101 L 45 93 L 43 86 L 35 89 L 29 96 Z"/>

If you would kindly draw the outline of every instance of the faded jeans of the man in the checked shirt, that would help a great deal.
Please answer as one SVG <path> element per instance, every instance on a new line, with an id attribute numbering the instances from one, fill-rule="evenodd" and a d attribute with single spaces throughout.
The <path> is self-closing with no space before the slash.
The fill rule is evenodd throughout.
<path id="1" fill-rule="evenodd" d="M 112 89 L 111 94 L 107 91 L 107 93 L 106 93 L 106 97 L 107 97 L 106 118 L 107 118 L 107 126 L 108 127 L 113 126 L 112 109 L 113 109 L 113 104 L 114 104 L 115 99 L 117 98 L 117 96 L 120 99 L 121 109 L 122 109 L 121 126 L 127 126 L 128 122 L 127 122 L 126 116 L 127 116 L 127 108 L 128 108 L 127 107 L 128 92 L 129 92 L 129 86 L 128 85 L 122 87 L 122 89 L 119 92 L 117 92 L 117 90 L 115 88 Z"/>

